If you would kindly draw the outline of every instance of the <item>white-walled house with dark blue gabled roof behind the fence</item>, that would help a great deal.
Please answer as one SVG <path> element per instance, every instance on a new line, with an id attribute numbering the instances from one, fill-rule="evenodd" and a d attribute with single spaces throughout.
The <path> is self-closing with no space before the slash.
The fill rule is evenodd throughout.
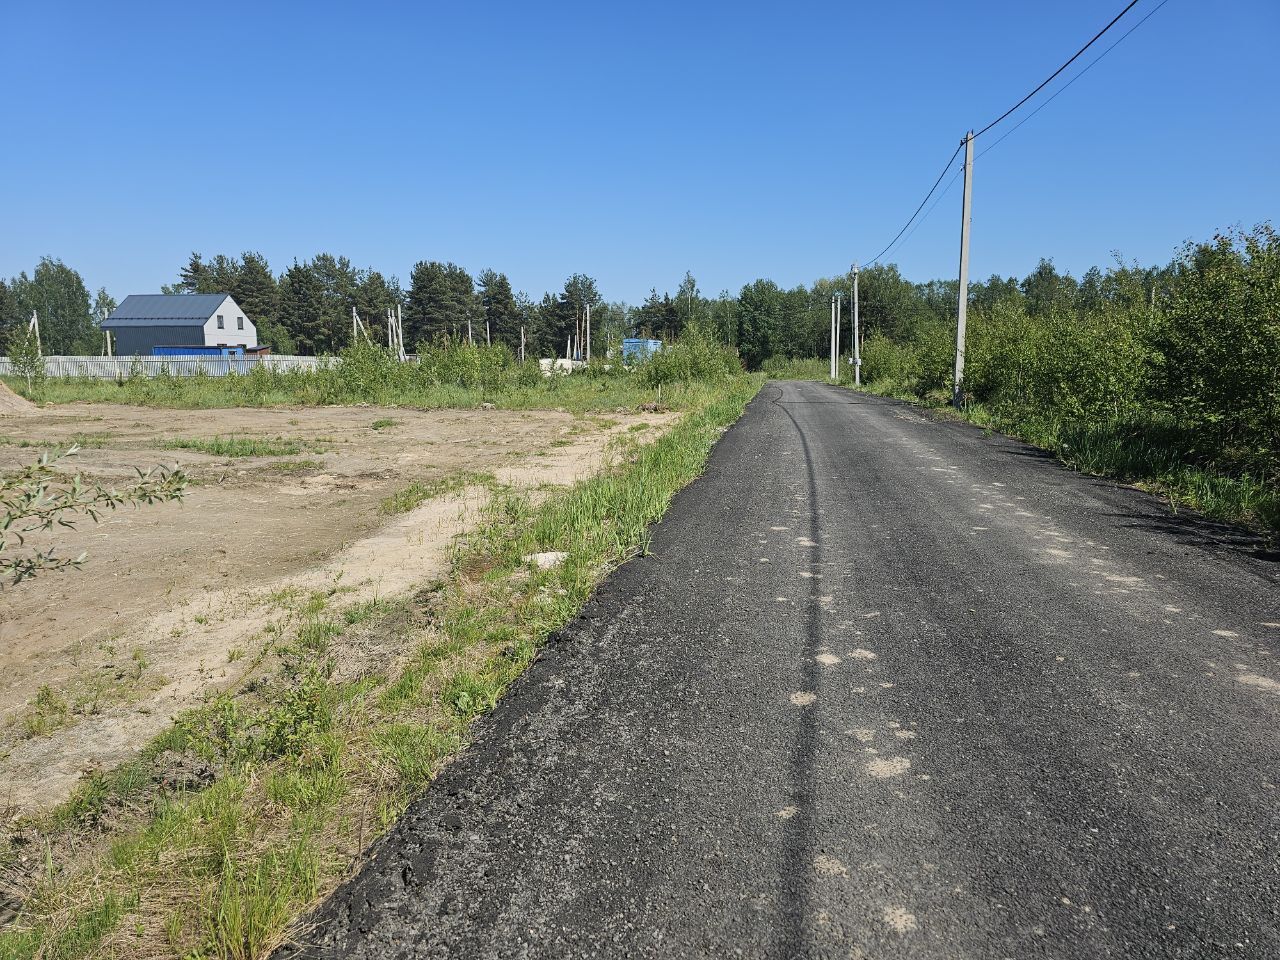
<path id="1" fill-rule="evenodd" d="M 128 357 L 257 353 L 257 330 L 227 293 L 133 293 L 102 321 Z"/>

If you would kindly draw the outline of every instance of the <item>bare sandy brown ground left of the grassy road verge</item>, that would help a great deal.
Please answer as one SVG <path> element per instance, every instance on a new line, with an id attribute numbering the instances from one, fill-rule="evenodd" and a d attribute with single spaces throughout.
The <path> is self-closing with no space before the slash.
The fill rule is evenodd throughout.
<path id="1" fill-rule="evenodd" d="M 394 425 L 372 428 L 387 419 Z M 182 503 L 64 531 L 60 552 L 88 553 L 82 570 L 0 586 L 0 808 L 58 803 L 88 772 L 128 759 L 175 714 L 239 681 L 282 591 L 337 586 L 340 607 L 443 573 L 485 492 L 468 486 L 383 515 L 381 500 L 410 483 L 490 472 L 521 486 L 568 484 L 602 466 L 612 436 L 637 424 L 657 435 L 671 420 L 90 404 L 0 416 L 0 468 L 38 456 L 23 442 L 87 435 L 67 461 L 87 479 L 119 484 L 157 463 L 192 479 Z M 307 449 L 228 458 L 161 447 L 209 436 L 285 438 Z"/>

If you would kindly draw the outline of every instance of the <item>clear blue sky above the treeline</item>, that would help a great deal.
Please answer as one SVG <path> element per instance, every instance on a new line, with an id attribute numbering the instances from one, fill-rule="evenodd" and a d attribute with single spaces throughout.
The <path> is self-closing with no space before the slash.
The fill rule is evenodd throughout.
<path id="1" fill-rule="evenodd" d="M 1123 5 L 14 3 L 0 275 L 50 255 L 123 298 L 260 250 L 535 297 L 804 283 L 883 247 L 963 132 Z M 1275 0 L 1169 0 L 980 156 L 973 275 L 1280 221 L 1277 46 Z M 908 276 L 955 274 L 959 202 L 890 257 Z"/>

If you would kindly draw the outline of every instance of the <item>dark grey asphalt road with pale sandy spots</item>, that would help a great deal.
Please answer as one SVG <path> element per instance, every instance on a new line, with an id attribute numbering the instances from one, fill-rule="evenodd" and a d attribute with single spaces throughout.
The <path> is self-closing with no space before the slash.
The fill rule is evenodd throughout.
<path id="1" fill-rule="evenodd" d="M 316 957 L 1280 957 L 1280 562 L 767 385 Z"/>

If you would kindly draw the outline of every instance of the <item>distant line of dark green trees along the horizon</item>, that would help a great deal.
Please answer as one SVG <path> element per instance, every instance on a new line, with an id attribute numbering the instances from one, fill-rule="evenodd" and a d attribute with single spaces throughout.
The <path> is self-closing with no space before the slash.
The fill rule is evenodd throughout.
<path id="1" fill-rule="evenodd" d="M 992 275 L 970 283 L 969 303 L 988 311 L 1001 302 L 1019 302 L 1030 316 L 1050 310 L 1087 315 L 1137 292 L 1152 305 L 1158 291 L 1190 255 L 1196 244 L 1178 251 L 1162 266 L 1125 264 L 1119 255 L 1106 270 L 1094 266 L 1079 279 L 1041 259 L 1023 278 Z M 399 307 L 404 343 L 460 342 L 470 324 L 476 343 L 493 343 L 518 352 L 521 330 L 530 357 L 563 356 L 567 340 L 586 308 L 591 310 L 593 344 L 598 355 L 623 337 L 677 339 L 692 328 L 735 349 L 749 369 L 767 360 L 826 357 L 829 351 L 829 298 L 844 298 L 842 349 L 851 352 L 851 276 L 819 278 L 783 288 L 769 279 L 745 284 L 736 296 L 722 291 L 705 297 L 689 271 L 675 293 L 657 287 L 640 305 L 607 301 L 591 276 L 568 276 L 561 291 L 534 301 L 513 292 L 507 275 L 494 269 L 472 276 L 447 261 L 420 261 L 408 289 L 394 275 L 356 268 L 344 256 L 319 253 L 294 260 L 279 275 L 266 257 L 248 251 L 205 259 L 193 252 L 163 293 L 229 293 L 257 328 L 259 340 L 278 353 L 337 353 L 351 346 L 352 308 L 375 343 L 385 343 L 387 310 Z M 913 282 L 896 264 L 864 268 L 859 274 L 859 314 L 863 337 L 913 342 L 924 330 L 955 324 L 959 283 L 955 279 Z M 44 257 L 31 276 L 0 278 L 0 347 L 13 349 L 26 333 L 32 310 L 40 311 L 44 352 L 96 355 L 102 352 L 99 323 L 116 306 L 100 288 L 91 297 L 81 275 L 52 257 Z"/>

